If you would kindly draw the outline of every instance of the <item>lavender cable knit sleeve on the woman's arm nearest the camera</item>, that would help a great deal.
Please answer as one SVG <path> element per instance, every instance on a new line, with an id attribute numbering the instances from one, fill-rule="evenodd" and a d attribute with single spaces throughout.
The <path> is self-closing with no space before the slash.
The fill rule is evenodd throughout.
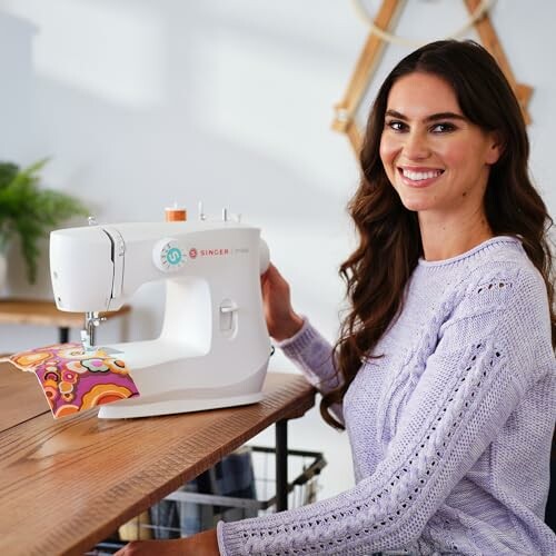
<path id="1" fill-rule="evenodd" d="M 218 525 L 222 555 L 364 555 L 411 546 L 543 373 L 546 291 L 533 270 L 467 287 L 426 360 L 385 458 L 334 498 Z"/>

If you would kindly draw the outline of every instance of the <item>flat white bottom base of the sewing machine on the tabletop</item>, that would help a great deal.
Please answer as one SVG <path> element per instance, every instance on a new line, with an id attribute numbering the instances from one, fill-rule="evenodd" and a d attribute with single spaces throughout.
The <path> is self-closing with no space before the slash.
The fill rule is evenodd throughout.
<path id="1" fill-rule="evenodd" d="M 248 404 L 256 404 L 261 399 L 261 391 L 226 398 L 168 399 L 163 401 L 147 401 L 140 405 L 133 405 L 133 399 L 131 398 L 126 400 L 130 403 L 129 405 L 118 403 L 102 406 L 99 410 L 98 417 L 99 419 L 126 419 L 136 417 L 152 417 L 156 415 L 183 414 L 207 409 L 218 409 L 221 407 L 246 406 Z"/>

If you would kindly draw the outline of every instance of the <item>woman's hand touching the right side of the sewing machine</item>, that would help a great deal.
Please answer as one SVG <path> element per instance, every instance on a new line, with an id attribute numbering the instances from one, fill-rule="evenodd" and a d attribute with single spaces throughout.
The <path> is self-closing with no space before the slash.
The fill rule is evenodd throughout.
<path id="1" fill-rule="evenodd" d="M 268 334 L 278 341 L 291 338 L 304 326 L 304 319 L 291 307 L 289 284 L 272 264 L 260 282 Z"/>

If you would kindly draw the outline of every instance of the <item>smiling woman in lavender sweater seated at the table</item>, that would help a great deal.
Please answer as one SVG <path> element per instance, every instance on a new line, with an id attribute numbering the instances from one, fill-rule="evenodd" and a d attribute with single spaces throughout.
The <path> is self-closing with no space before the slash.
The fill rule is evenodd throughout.
<path id="1" fill-rule="evenodd" d="M 357 485 L 122 554 L 556 554 L 543 520 L 552 220 L 527 159 L 519 106 L 481 47 L 438 41 L 401 60 L 367 126 L 334 356 L 274 267 L 262 284 L 269 332 L 347 429 Z"/>

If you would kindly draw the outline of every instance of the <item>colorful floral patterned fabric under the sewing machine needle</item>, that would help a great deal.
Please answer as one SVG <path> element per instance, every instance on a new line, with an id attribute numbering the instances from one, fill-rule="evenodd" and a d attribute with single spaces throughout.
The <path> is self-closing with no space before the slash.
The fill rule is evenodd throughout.
<path id="1" fill-rule="evenodd" d="M 106 350 L 54 344 L 12 355 L 21 370 L 37 375 L 54 418 L 139 396 L 126 363 Z"/>

